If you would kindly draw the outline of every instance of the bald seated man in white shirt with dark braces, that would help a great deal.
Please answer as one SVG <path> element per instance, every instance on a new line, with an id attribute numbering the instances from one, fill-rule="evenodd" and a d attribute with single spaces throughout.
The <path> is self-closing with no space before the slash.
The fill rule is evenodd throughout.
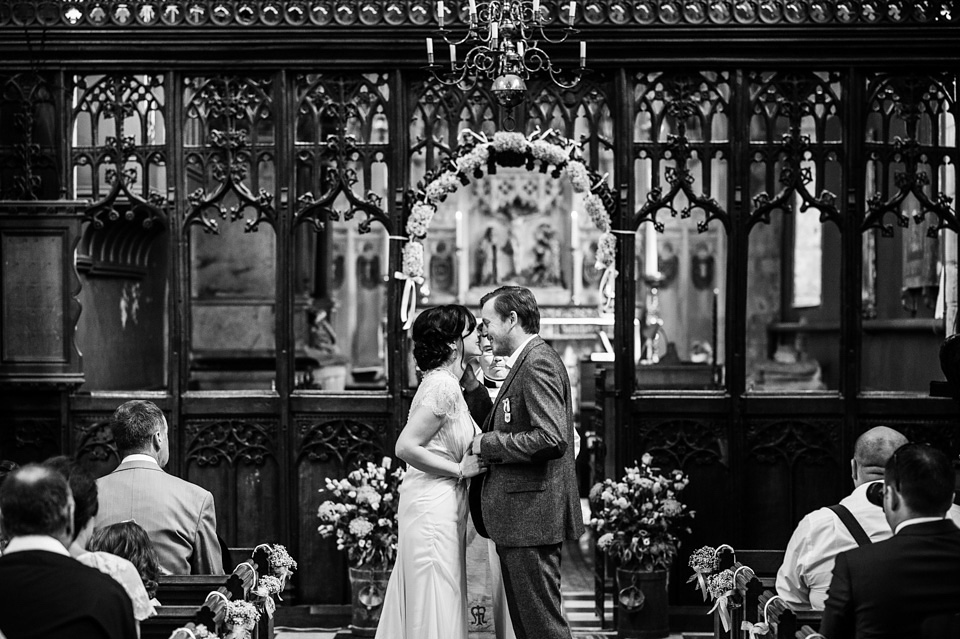
<path id="1" fill-rule="evenodd" d="M 867 500 L 867 490 L 883 481 L 887 460 L 906 443 L 906 437 L 886 426 L 860 435 L 850 460 L 854 489 L 840 501 L 843 508 L 821 508 L 800 520 L 777 572 L 777 594 L 791 608 L 823 610 L 837 555 L 893 536 L 883 509 Z M 947 517 L 960 524 L 960 508 L 953 506 Z"/>

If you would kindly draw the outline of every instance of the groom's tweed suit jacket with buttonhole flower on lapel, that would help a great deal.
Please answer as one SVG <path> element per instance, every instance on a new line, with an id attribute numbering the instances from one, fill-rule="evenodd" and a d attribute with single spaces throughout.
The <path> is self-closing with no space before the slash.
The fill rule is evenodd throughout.
<path id="1" fill-rule="evenodd" d="M 583 514 L 570 378 L 560 356 L 539 336 L 517 357 L 483 430 L 480 453 L 490 468 L 481 503 L 490 538 L 501 546 L 578 539 Z"/>

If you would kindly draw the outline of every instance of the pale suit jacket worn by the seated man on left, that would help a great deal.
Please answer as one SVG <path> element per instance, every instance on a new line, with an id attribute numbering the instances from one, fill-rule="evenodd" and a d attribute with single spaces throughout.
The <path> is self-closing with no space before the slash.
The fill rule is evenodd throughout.
<path id="1" fill-rule="evenodd" d="M 143 461 L 120 464 L 97 480 L 97 490 L 97 528 L 134 519 L 147 531 L 165 572 L 223 574 L 210 491 Z"/>

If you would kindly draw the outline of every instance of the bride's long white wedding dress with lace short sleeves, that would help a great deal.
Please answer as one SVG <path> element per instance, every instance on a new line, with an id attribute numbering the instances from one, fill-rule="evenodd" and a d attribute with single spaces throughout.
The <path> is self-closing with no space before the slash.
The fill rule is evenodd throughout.
<path id="1" fill-rule="evenodd" d="M 443 421 L 426 448 L 459 462 L 479 432 L 449 371 L 427 371 L 410 405 Z M 400 485 L 397 562 L 377 639 L 467 639 L 467 483 L 407 468 Z"/>

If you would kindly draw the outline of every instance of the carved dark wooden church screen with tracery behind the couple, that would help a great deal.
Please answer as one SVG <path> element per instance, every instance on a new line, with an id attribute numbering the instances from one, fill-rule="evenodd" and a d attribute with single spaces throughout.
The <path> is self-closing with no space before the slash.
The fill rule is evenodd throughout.
<path id="1" fill-rule="evenodd" d="M 448 26 L 467 4 L 445 3 Z M 317 491 L 390 454 L 406 416 L 408 191 L 505 118 L 582 141 L 614 187 L 613 312 L 591 297 L 587 216 L 549 172 L 503 168 L 438 211 L 418 306 L 475 306 L 505 277 L 472 272 L 477 220 L 524 241 L 549 222 L 544 335 L 606 451 L 581 472 L 644 452 L 684 469 L 679 565 L 718 540 L 782 548 L 849 491 L 871 426 L 960 453 L 955 400 L 929 393 L 957 326 L 954 3 L 587 0 L 592 73 L 533 77 L 510 112 L 482 83 L 429 82 L 435 12 L 0 0 L 0 458 L 109 472 L 110 413 L 151 399 L 170 471 L 213 491 L 228 545 L 284 543 L 292 602 L 345 603 Z M 594 392 L 601 332 L 616 361 Z"/>

